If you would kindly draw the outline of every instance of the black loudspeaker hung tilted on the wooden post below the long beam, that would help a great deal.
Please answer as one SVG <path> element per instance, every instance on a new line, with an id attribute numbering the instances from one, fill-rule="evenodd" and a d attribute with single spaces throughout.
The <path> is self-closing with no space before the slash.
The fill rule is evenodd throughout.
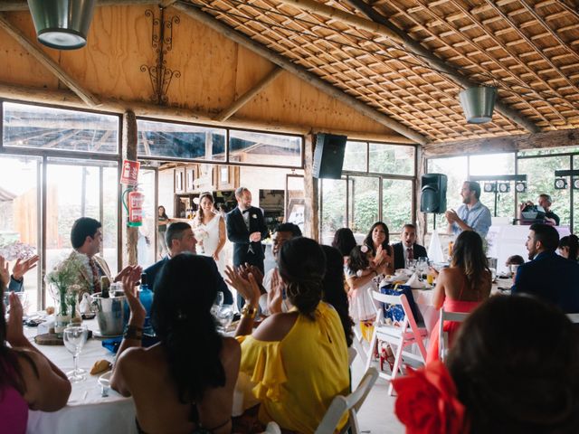
<path id="1" fill-rule="evenodd" d="M 317 134 L 313 172 L 315 178 L 340 179 L 344 165 L 346 136 Z"/>

